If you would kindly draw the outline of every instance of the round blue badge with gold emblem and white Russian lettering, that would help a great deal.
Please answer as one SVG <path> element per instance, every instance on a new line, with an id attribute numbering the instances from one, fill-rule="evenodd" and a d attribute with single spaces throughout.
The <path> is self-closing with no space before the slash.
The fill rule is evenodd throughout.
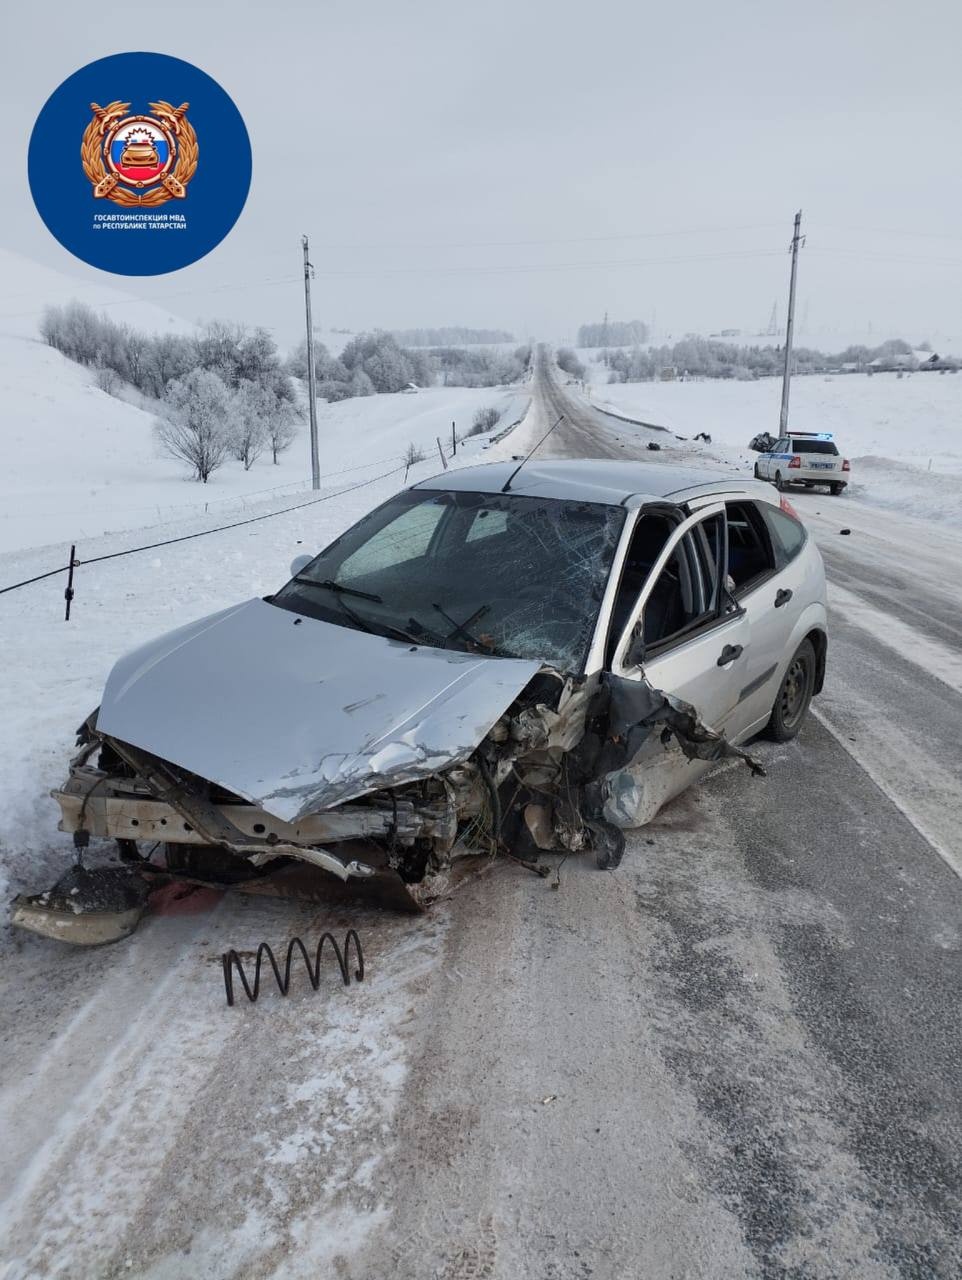
<path id="1" fill-rule="evenodd" d="M 217 246 L 251 187 L 251 140 L 210 76 L 165 54 L 74 72 L 37 116 L 27 161 L 47 230 L 91 266 L 162 275 Z"/>

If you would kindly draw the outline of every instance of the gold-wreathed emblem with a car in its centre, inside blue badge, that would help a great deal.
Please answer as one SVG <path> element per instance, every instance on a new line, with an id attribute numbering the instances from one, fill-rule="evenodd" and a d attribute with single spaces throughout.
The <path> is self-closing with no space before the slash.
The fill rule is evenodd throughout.
<path id="1" fill-rule="evenodd" d="M 129 102 L 91 102 L 81 163 L 95 200 L 125 209 L 156 209 L 183 200 L 197 170 L 197 134 L 187 119 L 191 104 L 150 102 L 151 115 L 128 115 Z"/>

